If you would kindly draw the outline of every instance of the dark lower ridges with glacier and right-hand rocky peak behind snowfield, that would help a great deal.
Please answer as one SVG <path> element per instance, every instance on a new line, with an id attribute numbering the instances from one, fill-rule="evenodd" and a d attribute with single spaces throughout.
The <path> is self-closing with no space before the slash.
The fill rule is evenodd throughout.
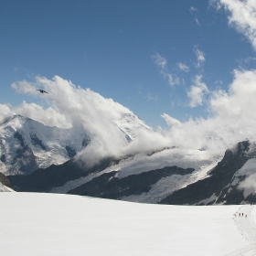
<path id="1" fill-rule="evenodd" d="M 74 160 L 29 176 L 9 176 L 19 191 L 68 193 L 133 202 L 212 205 L 256 202 L 256 144 L 241 142 L 222 157 L 165 149 L 152 155 L 107 158 L 86 167 Z"/>

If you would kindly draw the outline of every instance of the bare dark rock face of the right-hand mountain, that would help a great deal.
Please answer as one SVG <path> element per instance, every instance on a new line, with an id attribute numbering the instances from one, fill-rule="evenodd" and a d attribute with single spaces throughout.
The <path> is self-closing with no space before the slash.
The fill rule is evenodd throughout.
<path id="1" fill-rule="evenodd" d="M 249 142 L 246 141 L 238 144 L 236 152 L 227 150 L 223 159 L 210 172 L 210 176 L 177 190 L 170 196 L 165 197 L 160 203 L 197 205 L 200 204 L 200 201 L 215 195 L 217 199 L 208 204 L 239 204 L 243 200 L 242 191 L 237 187 L 230 190 L 229 187 L 234 174 L 249 159 L 246 154 L 249 146 Z M 230 191 L 229 197 L 227 197 L 228 190 Z"/>

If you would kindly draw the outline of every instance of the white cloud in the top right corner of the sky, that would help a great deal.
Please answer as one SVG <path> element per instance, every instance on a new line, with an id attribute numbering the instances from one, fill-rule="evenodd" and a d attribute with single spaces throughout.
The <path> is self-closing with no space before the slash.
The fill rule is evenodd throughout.
<path id="1" fill-rule="evenodd" d="M 234 26 L 251 41 L 256 50 L 256 1 L 218 0 L 218 6 L 229 11 L 229 25 Z"/>

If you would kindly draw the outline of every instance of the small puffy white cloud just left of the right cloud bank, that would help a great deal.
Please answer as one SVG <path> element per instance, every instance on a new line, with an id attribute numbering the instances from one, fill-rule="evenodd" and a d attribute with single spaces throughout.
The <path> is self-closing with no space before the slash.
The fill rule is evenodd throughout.
<path id="1" fill-rule="evenodd" d="M 208 93 L 207 85 L 201 81 L 202 76 L 197 75 L 194 79 L 194 84 L 191 86 L 190 91 L 187 92 L 188 98 L 190 98 L 189 106 L 195 108 L 203 104 L 203 97 L 205 93 Z"/>

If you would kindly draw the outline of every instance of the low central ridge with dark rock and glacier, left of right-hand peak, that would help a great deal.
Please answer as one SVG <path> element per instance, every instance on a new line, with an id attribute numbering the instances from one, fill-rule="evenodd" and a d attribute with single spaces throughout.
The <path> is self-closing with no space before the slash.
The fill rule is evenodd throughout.
<path id="1" fill-rule="evenodd" d="M 98 165 L 63 165 L 38 169 L 29 176 L 9 176 L 19 191 L 69 193 L 157 203 L 177 189 L 196 182 L 217 165 L 206 151 L 179 148 L 123 159 L 105 158 Z"/>

